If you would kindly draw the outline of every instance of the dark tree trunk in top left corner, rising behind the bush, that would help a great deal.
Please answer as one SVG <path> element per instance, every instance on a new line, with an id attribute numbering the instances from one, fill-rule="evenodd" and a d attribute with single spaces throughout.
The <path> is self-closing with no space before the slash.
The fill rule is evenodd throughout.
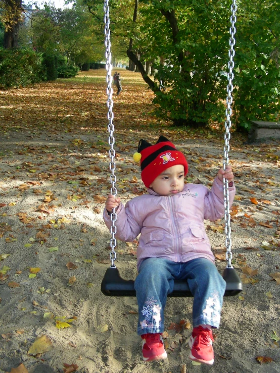
<path id="1" fill-rule="evenodd" d="M 8 13 L 8 18 L 4 21 L 4 48 L 16 48 L 18 46 L 19 25 L 22 16 L 22 0 L 4 0 L 3 8 Z"/>

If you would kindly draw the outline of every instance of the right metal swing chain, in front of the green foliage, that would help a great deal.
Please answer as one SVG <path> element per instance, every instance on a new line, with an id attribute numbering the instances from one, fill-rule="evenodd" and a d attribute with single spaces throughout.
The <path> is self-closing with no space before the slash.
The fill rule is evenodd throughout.
<path id="1" fill-rule="evenodd" d="M 236 0 L 232 0 L 232 5 L 231 5 L 231 17 L 230 17 L 230 22 L 231 26 L 229 28 L 229 33 L 230 33 L 230 38 L 229 38 L 229 51 L 228 51 L 228 57 L 229 57 L 229 62 L 228 62 L 228 74 L 227 74 L 227 97 L 226 97 L 226 111 L 225 111 L 225 134 L 224 134 L 224 155 L 223 155 L 223 169 L 225 170 L 226 166 L 228 165 L 229 159 L 228 159 L 228 153 L 229 153 L 229 140 L 230 140 L 230 127 L 231 127 L 231 103 L 232 103 L 232 96 L 231 93 L 234 90 L 234 86 L 232 85 L 232 81 L 234 80 L 234 73 L 232 70 L 234 69 L 235 63 L 234 63 L 234 56 L 235 56 L 235 33 L 236 33 L 236 28 L 235 28 L 235 23 L 236 23 L 236 11 L 237 11 L 237 5 L 236 5 Z M 223 178 L 223 195 L 224 195 L 224 221 L 225 221 L 225 247 L 226 247 L 226 253 L 225 257 L 227 260 L 227 268 L 232 268 L 231 265 L 231 259 L 232 259 L 232 253 L 231 253 L 231 228 L 230 228 L 230 213 L 229 213 L 229 192 L 228 192 L 228 180 Z"/>

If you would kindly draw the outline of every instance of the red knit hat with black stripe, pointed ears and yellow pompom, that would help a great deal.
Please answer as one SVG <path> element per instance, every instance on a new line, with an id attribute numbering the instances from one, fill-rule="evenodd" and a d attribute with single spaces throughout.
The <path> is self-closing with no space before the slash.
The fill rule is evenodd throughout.
<path id="1" fill-rule="evenodd" d="M 180 151 L 166 137 L 160 136 L 155 145 L 140 140 L 138 152 L 133 154 L 135 162 L 140 161 L 141 177 L 147 188 L 166 169 L 175 165 L 184 167 L 184 175 L 188 173 L 188 163 Z"/>

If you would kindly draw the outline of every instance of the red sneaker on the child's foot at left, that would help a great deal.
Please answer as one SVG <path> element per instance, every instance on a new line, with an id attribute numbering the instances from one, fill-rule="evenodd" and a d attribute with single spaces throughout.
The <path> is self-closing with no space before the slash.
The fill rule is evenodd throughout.
<path id="1" fill-rule="evenodd" d="M 141 337 L 143 339 L 142 353 L 144 361 L 163 360 L 167 358 L 161 334 L 149 333 L 143 334 Z"/>

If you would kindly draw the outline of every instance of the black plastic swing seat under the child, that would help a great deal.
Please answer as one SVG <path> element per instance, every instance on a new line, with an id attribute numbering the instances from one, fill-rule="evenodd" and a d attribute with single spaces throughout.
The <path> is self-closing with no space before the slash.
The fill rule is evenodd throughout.
<path id="1" fill-rule="evenodd" d="M 242 282 L 234 268 L 226 267 L 222 273 L 226 282 L 224 296 L 234 296 L 243 290 Z M 101 291 L 104 295 L 115 297 L 135 297 L 133 280 L 124 280 L 119 274 L 117 268 L 110 267 L 105 273 L 101 283 Z M 192 297 L 193 294 L 189 288 L 188 282 L 184 280 L 175 280 L 172 293 L 169 297 Z"/>

